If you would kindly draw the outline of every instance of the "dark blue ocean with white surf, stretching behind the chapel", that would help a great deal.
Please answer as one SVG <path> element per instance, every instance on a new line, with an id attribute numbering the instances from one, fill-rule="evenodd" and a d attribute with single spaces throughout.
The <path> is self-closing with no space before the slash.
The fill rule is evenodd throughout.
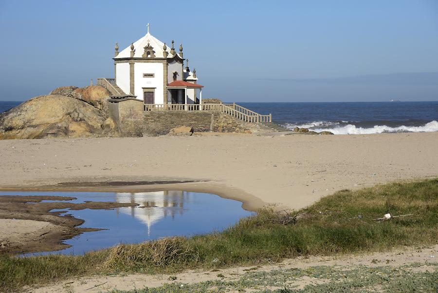
<path id="1" fill-rule="evenodd" d="M 0 101 L 0 113 L 20 102 Z M 334 134 L 438 131 L 438 101 L 249 103 L 237 102 L 260 114 L 272 114 L 278 124 Z"/>

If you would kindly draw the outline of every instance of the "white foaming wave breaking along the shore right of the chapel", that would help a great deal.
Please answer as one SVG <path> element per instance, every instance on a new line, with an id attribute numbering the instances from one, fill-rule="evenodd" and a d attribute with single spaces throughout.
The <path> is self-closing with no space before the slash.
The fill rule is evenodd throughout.
<path id="1" fill-rule="evenodd" d="M 338 123 L 339 124 L 339 123 Z M 334 134 L 376 134 L 376 133 L 395 133 L 395 132 L 434 132 L 438 131 L 438 122 L 430 121 L 422 126 L 398 126 L 390 127 L 386 125 L 375 125 L 370 128 L 356 127 L 356 125 L 347 124 L 339 127 L 316 128 L 317 125 L 311 127 L 313 131 L 330 131 Z"/>

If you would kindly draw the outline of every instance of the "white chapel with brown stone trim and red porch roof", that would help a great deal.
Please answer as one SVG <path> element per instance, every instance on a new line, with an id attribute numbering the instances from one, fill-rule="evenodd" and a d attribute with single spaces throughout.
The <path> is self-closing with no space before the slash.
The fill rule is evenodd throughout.
<path id="1" fill-rule="evenodd" d="M 196 70 L 191 71 L 188 59 L 183 58 L 183 44 L 178 50 L 173 40 L 169 48 L 152 36 L 147 24 L 146 35 L 122 51 L 116 43 L 114 78 L 106 81 L 119 93 L 115 96 L 130 96 L 145 105 L 201 104 L 203 86 L 197 83 Z"/>

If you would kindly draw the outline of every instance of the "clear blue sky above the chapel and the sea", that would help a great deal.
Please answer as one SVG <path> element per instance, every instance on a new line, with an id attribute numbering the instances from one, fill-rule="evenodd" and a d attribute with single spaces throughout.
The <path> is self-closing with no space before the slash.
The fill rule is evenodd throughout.
<path id="1" fill-rule="evenodd" d="M 438 100 L 438 0 L 0 0 L 0 100 L 113 77 L 147 22 L 204 98 Z"/>

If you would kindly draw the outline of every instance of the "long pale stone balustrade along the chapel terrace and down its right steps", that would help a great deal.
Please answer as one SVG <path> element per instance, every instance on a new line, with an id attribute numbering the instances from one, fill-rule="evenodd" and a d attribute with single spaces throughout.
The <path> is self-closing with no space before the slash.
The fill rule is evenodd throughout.
<path id="1" fill-rule="evenodd" d="M 236 104 L 144 104 L 145 111 L 219 111 L 245 122 L 272 122 L 272 115 L 260 115 Z"/>

